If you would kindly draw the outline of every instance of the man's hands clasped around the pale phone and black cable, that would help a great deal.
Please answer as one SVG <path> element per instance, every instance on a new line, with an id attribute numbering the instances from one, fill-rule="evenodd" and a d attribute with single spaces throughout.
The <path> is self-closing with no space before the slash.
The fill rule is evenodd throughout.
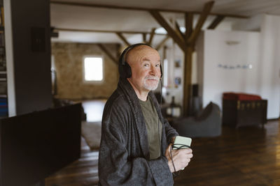
<path id="1" fill-rule="evenodd" d="M 172 144 L 169 144 L 169 146 L 165 150 L 165 156 L 167 157 L 170 171 L 173 173 L 174 171 L 179 171 L 185 168 L 186 166 L 188 166 L 188 163 L 190 162 L 190 158 L 193 157 L 193 150 L 190 148 L 172 150 L 172 158 L 176 169 L 174 170 L 174 166 L 172 164 L 172 158 L 170 154 L 170 148 L 172 148 Z"/>

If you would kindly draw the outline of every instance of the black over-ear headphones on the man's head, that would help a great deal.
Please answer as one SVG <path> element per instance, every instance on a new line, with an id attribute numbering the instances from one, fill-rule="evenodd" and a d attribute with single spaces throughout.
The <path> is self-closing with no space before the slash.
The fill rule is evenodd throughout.
<path id="1" fill-rule="evenodd" d="M 151 47 L 148 44 L 145 43 L 137 43 L 134 45 L 130 45 L 129 47 L 127 47 L 123 53 L 120 55 L 120 59 L 118 61 L 118 72 L 120 73 L 120 77 L 121 78 L 130 78 L 132 76 L 132 71 L 130 68 L 130 65 L 127 63 L 127 61 L 125 61 L 125 56 L 127 55 L 127 53 L 133 49 L 134 47 L 137 47 L 139 45 L 146 45 L 148 47 Z M 151 47 L 153 48 L 153 47 Z M 162 65 L 160 64 L 160 78 L 162 78 Z"/>

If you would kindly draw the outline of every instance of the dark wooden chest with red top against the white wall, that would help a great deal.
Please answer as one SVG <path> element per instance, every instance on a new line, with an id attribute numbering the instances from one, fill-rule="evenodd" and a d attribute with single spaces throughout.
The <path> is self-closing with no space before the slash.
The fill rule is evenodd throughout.
<path id="1" fill-rule="evenodd" d="M 223 93 L 223 124 L 232 127 L 267 123 L 267 100 L 259 95 Z"/>

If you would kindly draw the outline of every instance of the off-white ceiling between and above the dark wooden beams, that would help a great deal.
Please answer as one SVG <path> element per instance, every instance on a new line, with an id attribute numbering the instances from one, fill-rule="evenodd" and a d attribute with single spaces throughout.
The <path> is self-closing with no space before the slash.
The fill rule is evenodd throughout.
<path id="1" fill-rule="evenodd" d="M 204 4 L 208 0 L 57 0 L 50 4 L 50 24 L 60 29 L 87 29 L 104 31 L 148 31 L 152 28 L 160 28 L 146 10 L 125 10 L 113 8 L 97 8 L 87 6 L 72 6 L 55 2 L 87 3 L 107 6 L 123 6 L 132 8 L 168 9 L 202 12 Z M 216 0 L 211 13 L 225 15 L 242 15 L 253 17 L 260 14 L 279 15 L 280 0 Z M 183 26 L 183 13 L 161 12 L 167 20 L 176 20 Z M 194 26 L 199 15 L 194 17 Z M 211 15 L 204 24 L 204 29 L 214 20 Z M 217 29 L 230 30 L 232 24 L 240 18 L 227 17 Z M 141 42 L 141 34 L 124 34 L 131 43 Z M 165 36 L 155 36 L 154 42 L 158 43 Z M 53 42 L 120 42 L 116 33 L 96 33 L 81 31 L 59 31 L 58 38 L 52 38 Z"/>

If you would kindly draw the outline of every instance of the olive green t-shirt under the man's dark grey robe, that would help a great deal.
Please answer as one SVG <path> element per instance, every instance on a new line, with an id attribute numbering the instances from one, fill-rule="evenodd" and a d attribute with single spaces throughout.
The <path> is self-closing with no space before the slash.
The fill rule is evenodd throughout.
<path id="1" fill-rule="evenodd" d="M 162 123 L 158 118 L 158 112 L 153 105 L 153 101 L 148 97 L 146 102 L 139 100 L 144 114 L 146 129 L 148 133 L 148 146 L 150 160 L 160 157 L 160 141 L 162 139 Z"/>

